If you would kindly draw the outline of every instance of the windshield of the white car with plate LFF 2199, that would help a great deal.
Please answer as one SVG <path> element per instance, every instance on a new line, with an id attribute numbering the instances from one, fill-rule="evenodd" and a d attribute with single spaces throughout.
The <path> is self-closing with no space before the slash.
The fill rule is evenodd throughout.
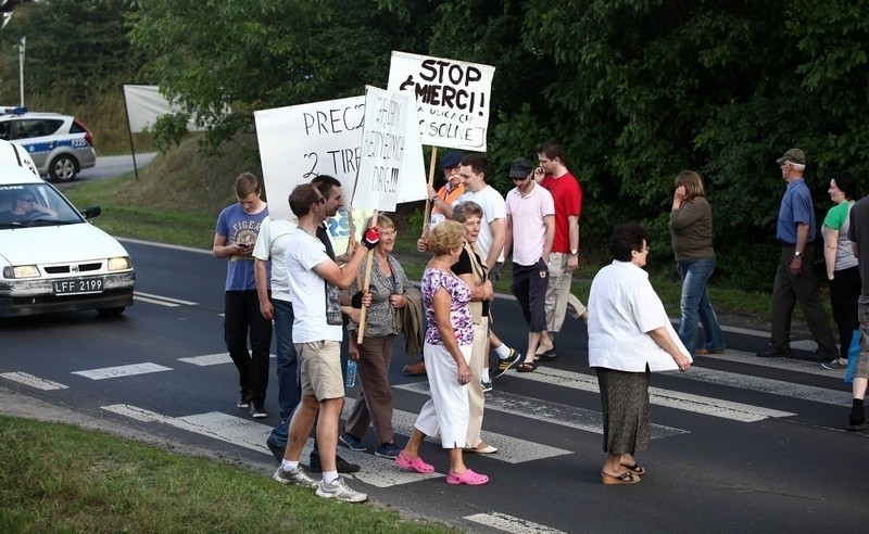
<path id="1" fill-rule="evenodd" d="M 85 218 L 49 183 L 0 185 L 0 228 L 77 223 Z"/>

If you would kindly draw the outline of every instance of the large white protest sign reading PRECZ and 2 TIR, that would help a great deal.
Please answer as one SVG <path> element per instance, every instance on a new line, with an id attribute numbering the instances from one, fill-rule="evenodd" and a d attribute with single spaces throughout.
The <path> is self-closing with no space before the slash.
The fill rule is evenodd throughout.
<path id="1" fill-rule="evenodd" d="M 365 97 L 254 112 L 263 180 L 273 219 L 292 216 L 287 199 L 295 186 L 317 175 L 341 182 L 353 198 L 365 118 Z"/>

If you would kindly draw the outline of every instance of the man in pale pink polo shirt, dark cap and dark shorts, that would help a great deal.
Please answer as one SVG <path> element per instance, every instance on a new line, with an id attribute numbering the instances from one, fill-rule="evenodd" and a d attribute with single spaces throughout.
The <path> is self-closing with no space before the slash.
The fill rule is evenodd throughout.
<path id="1" fill-rule="evenodd" d="M 513 251 L 511 291 L 528 322 L 528 352 L 519 372 L 537 369 L 534 354 L 546 330 L 546 287 L 552 242 L 555 239 L 555 204 L 552 194 L 533 178 L 533 165 L 519 157 L 509 167 L 516 185 L 507 193 L 507 231 L 504 252 Z"/>

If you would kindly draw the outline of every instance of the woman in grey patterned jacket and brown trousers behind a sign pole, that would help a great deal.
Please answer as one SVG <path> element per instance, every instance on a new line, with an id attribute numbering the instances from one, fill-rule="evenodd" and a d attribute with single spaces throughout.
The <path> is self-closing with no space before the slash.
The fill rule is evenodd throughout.
<path id="1" fill-rule="evenodd" d="M 366 223 L 365 228 L 374 226 Z M 399 260 L 392 257 L 395 246 L 395 225 L 386 215 L 377 217 L 380 241 L 374 247 L 370 284 L 365 295 L 367 305 L 365 333 L 361 345 L 356 345 L 357 326 L 348 325 L 350 343 L 357 346 L 350 354 L 358 354 L 358 379 L 362 392 L 348 417 L 344 433 L 340 435 L 343 445 L 353 450 L 365 450 L 362 441 L 368 427 L 374 423 L 378 447 L 374 454 L 383 458 L 395 458 L 401 448 L 395 446 L 392 436 L 392 385 L 389 383 L 389 364 L 392 360 L 392 344 L 398 329 L 395 310 L 407 304 L 404 291 L 411 281 Z M 350 287 L 350 294 L 358 292 L 357 282 Z M 358 298 L 358 297 L 357 297 Z"/>

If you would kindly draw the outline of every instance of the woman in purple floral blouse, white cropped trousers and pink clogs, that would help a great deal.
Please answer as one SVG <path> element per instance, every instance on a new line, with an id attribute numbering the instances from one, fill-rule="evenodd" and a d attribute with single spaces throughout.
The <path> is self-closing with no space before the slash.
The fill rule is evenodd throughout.
<path id="1" fill-rule="evenodd" d="M 414 424 L 414 433 L 395 465 L 418 473 L 431 473 L 434 467 L 419 456 L 426 436 L 440 432 L 441 446 L 450 453 L 448 484 L 480 485 L 489 476 L 465 466 L 462 449 L 468 430 L 468 382 L 470 382 L 470 347 L 474 320 L 468 303 L 470 288 L 457 278 L 451 267 L 462 254 L 465 228 L 454 220 L 436 226 L 429 236 L 428 249 L 434 257 L 423 274 L 423 306 L 426 309 L 426 360 L 431 398 L 423 406 Z"/>

